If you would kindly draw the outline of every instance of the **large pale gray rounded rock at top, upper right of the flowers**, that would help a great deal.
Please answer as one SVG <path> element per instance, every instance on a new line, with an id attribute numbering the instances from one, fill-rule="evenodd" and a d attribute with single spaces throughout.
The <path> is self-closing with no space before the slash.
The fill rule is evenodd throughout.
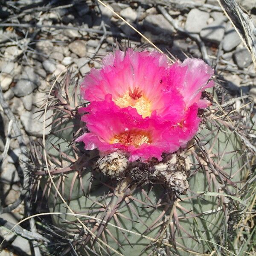
<path id="1" fill-rule="evenodd" d="M 200 33 L 201 29 L 207 26 L 210 15 L 198 9 L 192 9 L 186 19 L 185 29 L 190 33 Z"/>

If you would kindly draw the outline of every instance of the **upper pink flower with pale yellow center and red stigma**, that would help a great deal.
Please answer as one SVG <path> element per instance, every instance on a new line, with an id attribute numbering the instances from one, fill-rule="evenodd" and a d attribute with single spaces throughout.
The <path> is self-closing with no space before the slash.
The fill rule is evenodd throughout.
<path id="1" fill-rule="evenodd" d="M 165 90 L 163 78 L 169 63 L 159 52 L 116 51 L 103 59 L 102 69 L 92 69 L 81 83 L 81 95 L 89 101 L 102 101 L 111 94 L 120 108 L 131 106 L 143 118 L 151 114 L 177 122 L 185 103 L 180 93 Z"/>

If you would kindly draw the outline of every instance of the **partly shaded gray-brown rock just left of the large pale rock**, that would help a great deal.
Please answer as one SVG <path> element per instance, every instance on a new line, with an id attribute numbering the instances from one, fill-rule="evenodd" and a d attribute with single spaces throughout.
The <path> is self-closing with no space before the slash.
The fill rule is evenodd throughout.
<path id="1" fill-rule="evenodd" d="M 172 25 L 166 20 L 165 17 L 163 17 L 162 14 L 148 15 L 143 21 L 143 26 L 153 34 L 173 32 Z"/>

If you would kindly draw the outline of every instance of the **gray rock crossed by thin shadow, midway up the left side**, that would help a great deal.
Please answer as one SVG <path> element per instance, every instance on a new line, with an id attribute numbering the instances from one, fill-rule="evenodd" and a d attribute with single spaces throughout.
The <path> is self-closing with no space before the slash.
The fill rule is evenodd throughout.
<path id="1" fill-rule="evenodd" d="M 32 67 L 25 67 L 12 90 L 15 96 L 21 97 L 32 93 L 40 84 L 39 76 L 35 73 L 34 69 Z"/>

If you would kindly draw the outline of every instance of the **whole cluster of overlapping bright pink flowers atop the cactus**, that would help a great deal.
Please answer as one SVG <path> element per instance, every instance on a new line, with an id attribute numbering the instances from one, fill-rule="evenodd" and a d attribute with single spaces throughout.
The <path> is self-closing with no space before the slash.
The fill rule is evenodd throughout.
<path id="1" fill-rule="evenodd" d="M 131 161 L 161 160 L 197 133 L 198 108 L 210 104 L 201 93 L 214 85 L 212 75 L 199 59 L 171 65 L 159 52 L 117 50 L 81 83 L 82 97 L 91 102 L 81 109 L 90 133 L 77 141 L 104 154 L 122 150 Z"/>

